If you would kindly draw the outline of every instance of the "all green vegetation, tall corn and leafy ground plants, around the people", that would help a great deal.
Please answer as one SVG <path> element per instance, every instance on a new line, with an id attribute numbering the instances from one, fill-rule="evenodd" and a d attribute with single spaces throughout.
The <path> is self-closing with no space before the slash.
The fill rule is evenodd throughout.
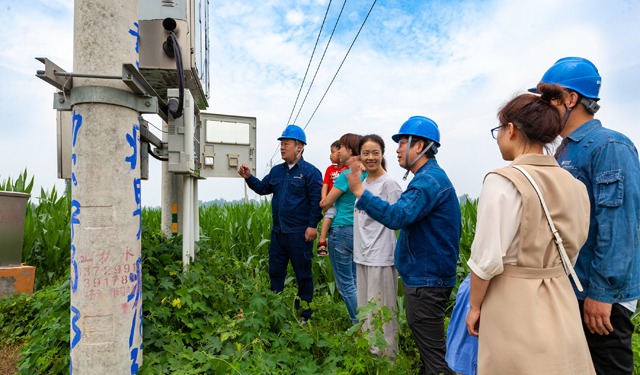
<path id="1" fill-rule="evenodd" d="M 26 171 L 0 190 L 30 192 Z M 21 374 L 69 372 L 69 215 L 70 202 L 55 189 L 41 191 L 27 210 L 23 261 L 38 268 L 38 290 L 0 299 L 0 341 L 21 343 Z M 458 278 L 475 234 L 477 205 L 462 201 L 462 239 Z M 182 272 L 182 238 L 160 232 L 160 211 L 142 213 L 143 335 L 142 374 L 412 374 L 419 361 L 398 291 L 400 353 L 393 363 L 368 351 L 386 345 L 351 327 L 327 258 L 314 258 L 314 315 L 300 324 L 293 307 L 295 276 L 289 268 L 285 291 L 269 290 L 268 247 L 271 207 L 265 204 L 210 205 L 200 208 L 197 260 Z M 446 307 L 450 315 L 455 292 Z M 375 311 L 373 311 L 375 310 Z M 374 326 L 389 311 L 374 312 Z M 448 318 L 446 318 L 448 322 Z M 636 325 L 640 317 L 634 316 Z M 351 329 L 350 329 L 351 328 Z M 640 374 L 640 335 L 634 335 Z"/>

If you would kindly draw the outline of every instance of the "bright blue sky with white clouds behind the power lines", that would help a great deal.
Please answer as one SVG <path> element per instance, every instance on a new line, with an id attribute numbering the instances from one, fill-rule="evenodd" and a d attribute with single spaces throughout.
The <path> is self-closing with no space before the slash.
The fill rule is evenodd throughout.
<path id="1" fill-rule="evenodd" d="M 309 96 L 300 110 L 343 0 L 332 0 L 301 99 L 304 126 L 318 105 L 373 0 L 347 0 Z M 206 112 L 251 116 L 258 124 L 258 176 L 287 125 L 329 0 L 210 0 L 210 98 Z M 0 180 L 25 168 L 35 192 L 57 179 L 53 87 L 35 77 L 48 57 L 73 66 L 73 2 L 0 0 Z M 591 60 L 602 76 L 596 118 L 640 142 L 640 3 L 635 0 L 378 0 L 322 105 L 309 122 L 305 160 L 322 173 L 342 134 L 386 142 L 389 173 L 404 170 L 391 140 L 409 117 L 439 126 L 438 163 L 458 195 L 477 197 L 484 176 L 508 163 L 489 129 L 514 95 L 534 87 L 558 59 Z M 145 115 L 160 125 L 157 116 Z M 292 120 L 293 122 L 293 120 Z M 160 137 L 160 133 L 152 129 Z M 279 153 L 274 164 L 280 163 Z M 150 160 L 142 203 L 160 205 L 161 164 Z M 411 176 L 411 175 L 410 175 Z M 410 177 L 409 177 L 410 180 Z M 243 181 L 208 179 L 203 201 L 244 196 Z M 36 193 L 37 194 L 37 193 Z M 250 192 L 249 198 L 257 198 Z"/>

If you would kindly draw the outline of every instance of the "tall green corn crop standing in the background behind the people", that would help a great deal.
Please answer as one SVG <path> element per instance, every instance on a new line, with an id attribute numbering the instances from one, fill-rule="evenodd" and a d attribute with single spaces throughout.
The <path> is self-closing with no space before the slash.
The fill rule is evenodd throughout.
<path id="1" fill-rule="evenodd" d="M 25 170 L 17 179 L 0 182 L 0 191 L 16 191 L 31 194 L 33 177 Z M 463 280 L 469 273 L 467 260 L 475 235 L 477 204 L 465 201 L 462 210 L 462 239 L 458 261 L 458 278 Z M 36 267 L 35 290 L 52 285 L 68 271 L 71 253 L 71 200 L 67 194 L 59 194 L 55 187 L 51 191 L 40 191 L 32 197 L 25 218 L 22 262 Z M 142 210 L 142 225 L 148 232 L 160 232 L 161 212 L 158 208 Z M 271 233 L 271 204 L 226 204 L 200 207 L 201 247 L 226 249 L 239 259 L 253 263 L 255 267 L 266 267 Z M 328 257 L 315 257 L 313 282 L 320 294 L 339 299 L 335 278 Z M 290 269 L 285 285 L 295 280 Z M 399 283 L 398 296 L 404 296 Z M 453 301 L 450 302 L 452 306 Z M 449 308 L 450 310 L 450 308 Z"/>

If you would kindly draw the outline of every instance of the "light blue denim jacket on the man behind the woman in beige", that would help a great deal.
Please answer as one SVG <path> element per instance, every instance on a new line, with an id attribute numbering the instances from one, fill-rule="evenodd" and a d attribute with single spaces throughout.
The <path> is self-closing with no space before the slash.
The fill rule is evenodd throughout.
<path id="1" fill-rule="evenodd" d="M 587 186 L 591 202 L 589 237 L 575 270 L 583 292 L 605 303 L 640 297 L 640 161 L 626 136 L 602 127 L 598 120 L 582 124 L 556 152 L 558 164 Z"/>

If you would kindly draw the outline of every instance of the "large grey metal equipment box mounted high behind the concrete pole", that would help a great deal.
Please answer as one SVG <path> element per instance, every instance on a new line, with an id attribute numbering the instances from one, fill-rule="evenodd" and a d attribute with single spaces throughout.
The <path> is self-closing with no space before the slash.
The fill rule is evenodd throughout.
<path id="1" fill-rule="evenodd" d="M 164 99 L 167 89 L 178 87 L 176 61 L 163 49 L 170 33 L 167 28 L 175 27 L 182 53 L 185 88 L 191 91 L 198 108 L 206 109 L 209 99 L 209 0 L 138 0 L 138 27 L 138 69 Z"/>

